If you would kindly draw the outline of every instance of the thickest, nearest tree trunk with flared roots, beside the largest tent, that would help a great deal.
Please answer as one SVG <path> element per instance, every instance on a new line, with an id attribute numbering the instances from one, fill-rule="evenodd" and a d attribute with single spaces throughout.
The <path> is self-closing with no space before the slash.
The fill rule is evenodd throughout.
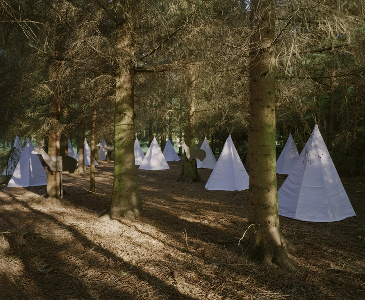
<path id="1" fill-rule="evenodd" d="M 249 253 L 294 268 L 279 225 L 275 156 L 275 2 L 253 0 L 250 62 Z"/>

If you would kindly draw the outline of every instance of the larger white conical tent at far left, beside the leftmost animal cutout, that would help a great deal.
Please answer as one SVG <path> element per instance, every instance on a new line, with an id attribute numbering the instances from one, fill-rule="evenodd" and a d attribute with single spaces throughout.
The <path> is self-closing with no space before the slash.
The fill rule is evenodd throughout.
<path id="1" fill-rule="evenodd" d="M 47 184 L 47 173 L 37 154 L 32 154 L 33 150 L 31 140 L 28 139 L 13 176 L 7 185 L 8 187 L 27 187 Z"/>

